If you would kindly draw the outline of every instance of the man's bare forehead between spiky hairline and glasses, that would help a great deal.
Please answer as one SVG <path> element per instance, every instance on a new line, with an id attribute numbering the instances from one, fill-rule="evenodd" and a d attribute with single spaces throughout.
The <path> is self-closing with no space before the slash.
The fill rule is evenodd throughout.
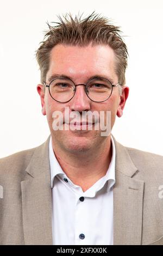
<path id="1" fill-rule="evenodd" d="M 65 74 L 74 79 L 81 75 L 89 78 L 93 75 L 111 76 L 115 74 L 115 53 L 110 46 L 65 46 L 56 45 L 50 54 L 47 78 L 52 74 Z"/>

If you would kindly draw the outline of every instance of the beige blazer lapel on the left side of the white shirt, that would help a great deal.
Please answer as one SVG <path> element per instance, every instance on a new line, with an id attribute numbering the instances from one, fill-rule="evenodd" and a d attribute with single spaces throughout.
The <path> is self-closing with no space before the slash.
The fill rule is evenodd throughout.
<path id="1" fill-rule="evenodd" d="M 49 138 L 34 151 L 21 181 L 24 241 L 52 245 L 52 190 L 48 156 Z"/>

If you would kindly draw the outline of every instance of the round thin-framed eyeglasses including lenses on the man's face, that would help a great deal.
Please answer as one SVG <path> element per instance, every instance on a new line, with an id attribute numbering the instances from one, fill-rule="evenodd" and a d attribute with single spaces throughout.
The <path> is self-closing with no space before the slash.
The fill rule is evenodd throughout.
<path id="1" fill-rule="evenodd" d="M 66 103 L 70 101 L 76 93 L 77 86 L 85 86 L 85 93 L 90 100 L 103 102 L 109 99 L 112 94 L 112 87 L 121 86 L 112 84 L 104 77 L 95 77 L 87 81 L 86 84 L 75 84 L 70 78 L 58 77 L 48 85 L 43 81 L 44 86 L 49 88 L 49 94 L 53 100 Z"/>

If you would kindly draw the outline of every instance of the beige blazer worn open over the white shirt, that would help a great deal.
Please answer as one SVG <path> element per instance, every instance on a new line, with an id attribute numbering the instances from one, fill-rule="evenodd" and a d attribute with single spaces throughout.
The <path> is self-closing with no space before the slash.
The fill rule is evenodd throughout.
<path id="1" fill-rule="evenodd" d="M 52 245 L 48 144 L 0 160 L 1 245 Z M 114 245 L 163 245 L 163 156 L 115 147 Z"/>

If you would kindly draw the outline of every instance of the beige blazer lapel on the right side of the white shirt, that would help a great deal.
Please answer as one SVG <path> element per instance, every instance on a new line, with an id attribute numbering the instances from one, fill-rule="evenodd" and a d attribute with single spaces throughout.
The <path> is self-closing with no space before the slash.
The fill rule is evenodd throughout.
<path id="1" fill-rule="evenodd" d="M 115 141 L 114 245 L 141 245 L 143 186 L 128 151 Z"/>

